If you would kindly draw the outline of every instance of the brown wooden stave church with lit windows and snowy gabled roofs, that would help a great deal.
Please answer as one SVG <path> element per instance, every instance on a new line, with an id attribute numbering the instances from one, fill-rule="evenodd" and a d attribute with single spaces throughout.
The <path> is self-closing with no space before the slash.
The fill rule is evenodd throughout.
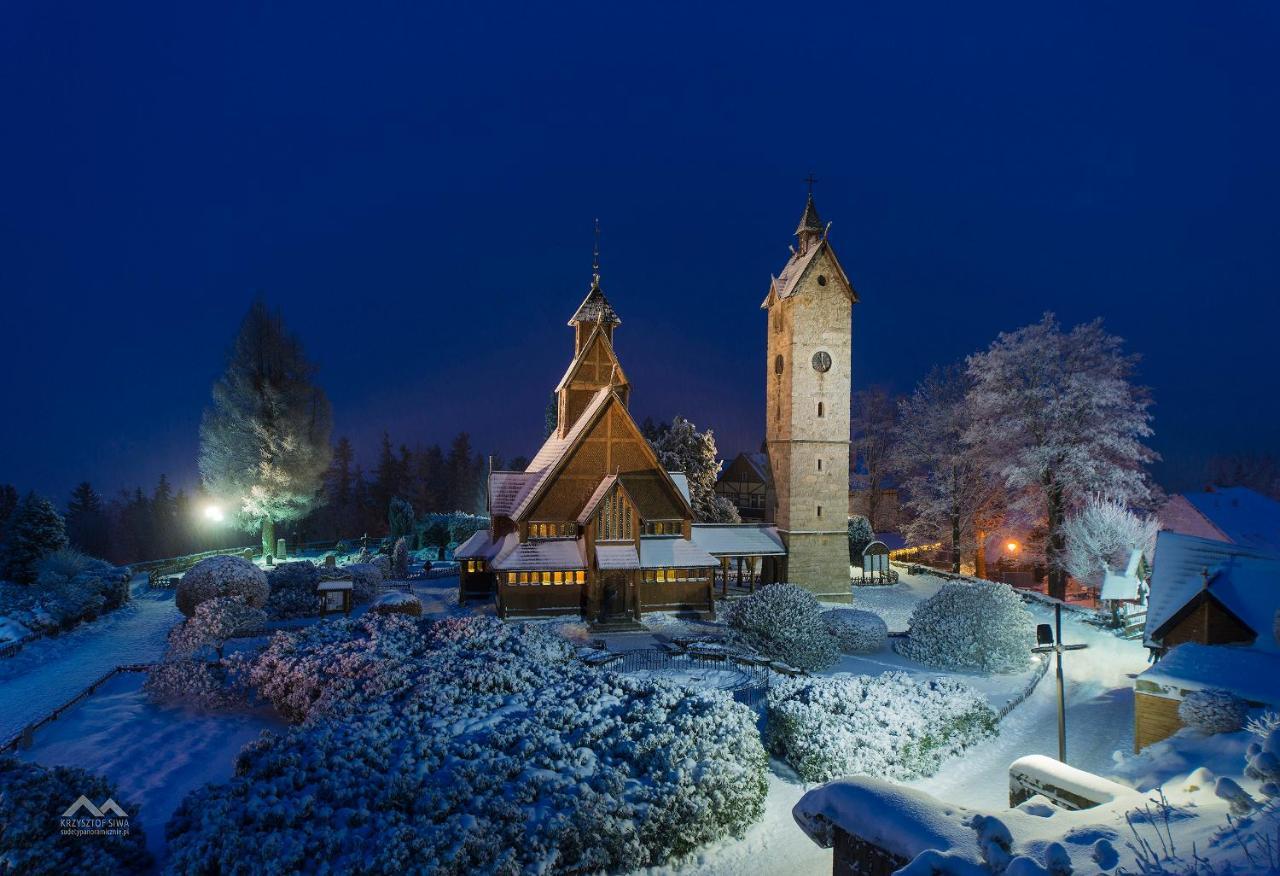
<path id="1" fill-rule="evenodd" d="M 524 471 L 489 475 L 490 526 L 454 551 L 460 602 L 495 598 L 502 617 L 714 617 L 717 572 L 768 583 L 786 548 L 764 524 L 695 524 L 689 483 L 667 471 L 627 410 L 613 348 L 622 320 L 593 277 L 570 319 L 573 359 L 557 425 Z"/>

